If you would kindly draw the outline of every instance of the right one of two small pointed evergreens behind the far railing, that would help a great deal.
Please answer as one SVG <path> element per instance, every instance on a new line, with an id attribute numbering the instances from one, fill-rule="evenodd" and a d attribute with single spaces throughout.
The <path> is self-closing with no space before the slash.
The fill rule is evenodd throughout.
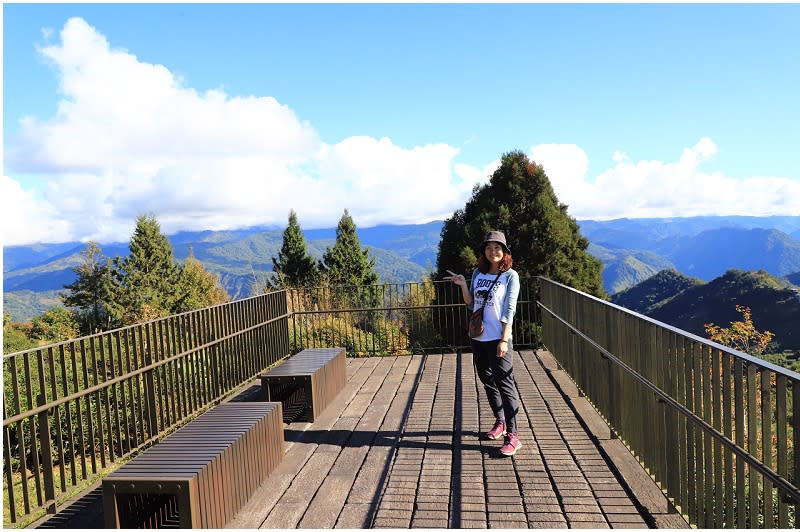
<path id="1" fill-rule="evenodd" d="M 378 282 L 375 257 L 361 247 L 356 224 L 347 209 L 336 226 L 336 243 L 325 250 L 320 270 L 330 285 L 370 285 Z"/>

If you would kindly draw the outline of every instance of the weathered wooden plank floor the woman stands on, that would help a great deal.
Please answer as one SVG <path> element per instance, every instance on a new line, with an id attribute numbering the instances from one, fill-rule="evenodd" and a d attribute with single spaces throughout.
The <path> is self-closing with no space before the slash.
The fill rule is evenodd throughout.
<path id="1" fill-rule="evenodd" d="M 523 447 L 514 457 L 482 436 L 494 418 L 471 354 L 348 359 L 345 389 L 314 423 L 287 426 L 283 462 L 228 527 L 657 524 L 539 356 L 515 356 Z"/>

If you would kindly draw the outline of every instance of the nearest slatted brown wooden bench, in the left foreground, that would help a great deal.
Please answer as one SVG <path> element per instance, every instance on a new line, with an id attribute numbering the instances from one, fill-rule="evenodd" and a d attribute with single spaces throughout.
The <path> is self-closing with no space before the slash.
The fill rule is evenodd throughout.
<path id="1" fill-rule="evenodd" d="M 280 403 L 218 405 L 103 479 L 105 528 L 223 528 L 282 458 Z"/>

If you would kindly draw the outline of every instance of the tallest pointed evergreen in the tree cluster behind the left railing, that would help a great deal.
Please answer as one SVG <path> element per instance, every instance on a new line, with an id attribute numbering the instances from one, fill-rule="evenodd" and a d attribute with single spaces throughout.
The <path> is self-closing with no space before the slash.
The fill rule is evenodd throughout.
<path id="1" fill-rule="evenodd" d="M 113 317 L 126 325 L 171 314 L 178 300 L 179 269 L 155 216 L 136 218 L 128 247 L 127 257 L 114 259 Z"/>

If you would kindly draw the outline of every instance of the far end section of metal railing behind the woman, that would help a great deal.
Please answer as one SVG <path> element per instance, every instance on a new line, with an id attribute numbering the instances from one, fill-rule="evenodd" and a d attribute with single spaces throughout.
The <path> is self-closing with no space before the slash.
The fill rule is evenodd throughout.
<path id="1" fill-rule="evenodd" d="M 517 348 L 539 343 L 537 280 L 520 279 L 513 338 Z M 292 351 L 339 346 L 348 356 L 472 349 L 469 312 L 449 281 L 334 286 L 289 291 Z"/>

